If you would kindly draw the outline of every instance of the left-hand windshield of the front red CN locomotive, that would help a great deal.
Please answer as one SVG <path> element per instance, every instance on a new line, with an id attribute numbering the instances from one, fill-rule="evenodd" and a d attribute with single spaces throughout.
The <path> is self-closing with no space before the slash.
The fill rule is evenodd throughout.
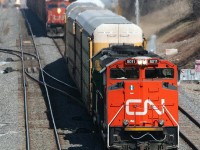
<path id="1" fill-rule="evenodd" d="M 138 79 L 139 69 L 136 68 L 114 68 L 110 70 L 110 78 L 113 79 Z"/>

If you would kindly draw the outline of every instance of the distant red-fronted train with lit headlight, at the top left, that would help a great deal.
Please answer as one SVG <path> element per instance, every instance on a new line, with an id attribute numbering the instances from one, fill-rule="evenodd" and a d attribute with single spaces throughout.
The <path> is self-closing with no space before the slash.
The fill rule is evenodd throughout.
<path id="1" fill-rule="evenodd" d="M 63 37 L 66 7 L 73 0 L 27 0 L 27 6 L 45 24 L 47 36 Z"/>

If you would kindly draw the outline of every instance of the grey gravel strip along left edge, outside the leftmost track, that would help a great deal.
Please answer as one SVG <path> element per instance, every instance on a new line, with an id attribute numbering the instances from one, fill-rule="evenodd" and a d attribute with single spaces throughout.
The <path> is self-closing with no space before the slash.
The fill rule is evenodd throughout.
<path id="1" fill-rule="evenodd" d="M 0 9 L 0 48 L 16 49 L 18 33 L 18 11 L 15 8 Z M 9 17 L 8 17 L 9 16 Z M 6 58 L 18 60 L 10 54 L 0 53 L 0 64 Z M 18 62 L 0 65 L 0 70 L 6 67 L 17 69 Z M 15 71 L 8 74 L 0 74 L 0 149 L 14 150 L 20 142 L 18 130 L 18 76 Z"/>

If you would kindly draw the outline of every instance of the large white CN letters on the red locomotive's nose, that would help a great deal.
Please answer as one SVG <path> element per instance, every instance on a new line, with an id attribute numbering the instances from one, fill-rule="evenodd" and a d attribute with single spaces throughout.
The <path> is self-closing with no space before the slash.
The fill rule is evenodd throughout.
<path id="1" fill-rule="evenodd" d="M 133 111 L 130 110 L 130 104 L 131 103 L 135 104 L 135 105 L 131 105 L 133 107 Z M 143 112 L 134 112 L 134 106 L 137 107 L 136 104 L 138 104 L 138 103 L 142 103 L 142 100 L 141 99 L 128 99 L 126 101 L 126 113 L 128 115 L 144 116 L 144 115 L 147 114 L 148 104 L 149 104 L 152 107 L 152 109 L 155 110 L 155 112 L 158 115 L 164 114 L 164 108 L 162 107 L 162 110 L 159 110 L 150 99 L 147 99 L 147 100 L 144 101 L 144 111 Z M 165 100 L 161 99 L 161 105 L 162 106 L 164 105 L 164 103 L 165 103 Z"/>

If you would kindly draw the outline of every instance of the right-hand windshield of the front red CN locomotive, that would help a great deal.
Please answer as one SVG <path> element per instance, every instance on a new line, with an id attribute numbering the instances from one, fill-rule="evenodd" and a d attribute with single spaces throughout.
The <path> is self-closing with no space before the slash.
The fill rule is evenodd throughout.
<path id="1" fill-rule="evenodd" d="M 172 68 L 148 68 L 145 70 L 145 78 L 174 78 Z"/>

